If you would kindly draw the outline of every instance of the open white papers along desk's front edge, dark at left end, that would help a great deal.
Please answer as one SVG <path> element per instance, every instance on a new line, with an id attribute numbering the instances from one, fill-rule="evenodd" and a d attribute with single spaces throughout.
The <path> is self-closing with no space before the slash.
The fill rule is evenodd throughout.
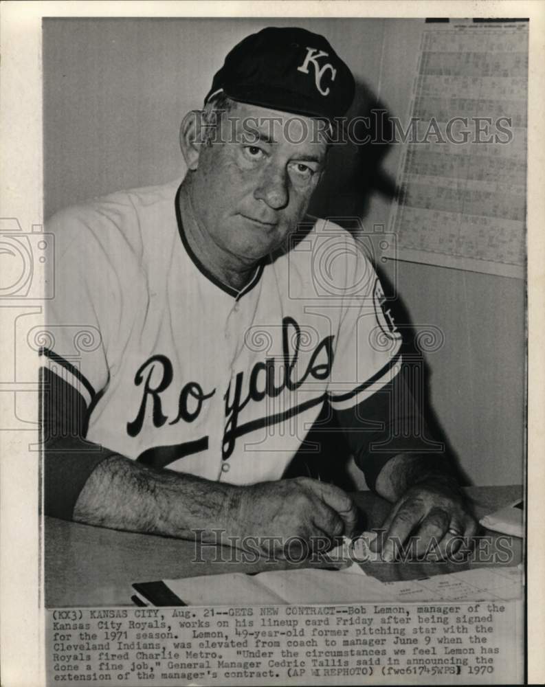
<path id="1" fill-rule="evenodd" d="M 359 569 L 359 566 L 356 565 Z M 146 604 L 160 603 L 157 589 L 168 588 L 180 605 L 344 604 L 375 601 L 486 601 L 522 597 L 522 569 L 487 567 L 415 581 L 382 583 L 357 572 L 278 570 L 257 575 L 231 573 L 136 585 Z M 160 595 L 159 595 L 160 596 Z"/>

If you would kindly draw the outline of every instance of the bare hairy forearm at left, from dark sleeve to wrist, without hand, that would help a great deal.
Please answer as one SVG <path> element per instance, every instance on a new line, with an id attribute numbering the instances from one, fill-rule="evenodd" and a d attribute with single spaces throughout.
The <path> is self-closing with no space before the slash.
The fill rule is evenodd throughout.
<path id="1" fill-rule="evenodd" d="M 114 455 L 91 473 L 76 502 L 74 520 L 180 538 L 204 530 L 203 540 L 216 541 L 212 529 L 234 527 L 239 490 L 185 473 L 148 469 Z"/>

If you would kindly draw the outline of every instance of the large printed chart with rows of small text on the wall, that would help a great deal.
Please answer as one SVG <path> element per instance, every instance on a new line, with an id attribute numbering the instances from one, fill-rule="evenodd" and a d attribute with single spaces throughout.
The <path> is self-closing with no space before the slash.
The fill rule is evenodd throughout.
<path id="1" fill-rule="evenodd" d="M 390 220 L 401 260 L 524 277 L 527 91 L 526 21 L 425 24 Z"/>

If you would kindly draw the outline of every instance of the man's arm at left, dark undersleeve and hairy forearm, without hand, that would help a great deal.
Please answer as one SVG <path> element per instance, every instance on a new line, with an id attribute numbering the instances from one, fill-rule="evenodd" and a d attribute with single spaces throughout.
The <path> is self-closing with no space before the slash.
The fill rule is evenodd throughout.
<path id="1" fill-rule="evenodd" d="M 40 383 L 45 515 L 171 537 L 232 528 L 238 488 L 153 469 L 93 444 L 85 438 L 82 394 L 45 366 Z"/>

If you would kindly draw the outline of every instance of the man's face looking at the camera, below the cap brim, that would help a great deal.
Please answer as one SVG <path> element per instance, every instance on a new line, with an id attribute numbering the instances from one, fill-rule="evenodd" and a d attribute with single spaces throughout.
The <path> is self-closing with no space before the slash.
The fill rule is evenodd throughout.
<path id="1" fill-rule="evenodd" d="M 193 210 L 218 247 L 252 264 L 307 211 L 325 163 L 324 123 L 235 103 L 220 133 L 201 146 Z"/>

